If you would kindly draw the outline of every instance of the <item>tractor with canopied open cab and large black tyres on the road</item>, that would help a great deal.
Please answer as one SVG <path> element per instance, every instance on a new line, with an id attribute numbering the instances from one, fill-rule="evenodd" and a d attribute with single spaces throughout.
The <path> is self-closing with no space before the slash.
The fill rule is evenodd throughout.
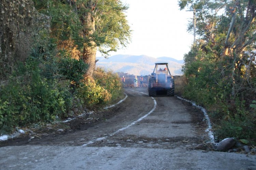
<path id="1" fill-rule="evenodd" d="M 148 80 L 148 95 L 174 96 L 174 79 L 168 63 L 155 63 L 154 71 Z"/>

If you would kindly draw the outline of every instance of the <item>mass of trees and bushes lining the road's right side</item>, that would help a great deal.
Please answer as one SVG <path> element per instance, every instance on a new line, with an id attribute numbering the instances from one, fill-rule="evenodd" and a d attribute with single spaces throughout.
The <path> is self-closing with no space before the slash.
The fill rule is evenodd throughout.
<path id="1" fill-rule="evenodd" d="M 218 139 L 256 142 L 256 3 L 180 0 L 196 12 L 196 40 L 184 55 L 183 97 L 208 109 Z M 188 27 L 193 31 L 193 22 Z"/>

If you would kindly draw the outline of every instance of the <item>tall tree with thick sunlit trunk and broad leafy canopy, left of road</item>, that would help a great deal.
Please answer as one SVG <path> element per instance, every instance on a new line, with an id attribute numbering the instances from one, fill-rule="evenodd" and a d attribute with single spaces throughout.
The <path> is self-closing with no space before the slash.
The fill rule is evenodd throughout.
<path id="1" fill-rule="evenodd" d="M 106 57 L 130 40 L 131 30 L 124 14 L 128 7 L 120 0 L 34 1 L 39 11 L 56 21 L 51 29 L 65 34 L 57 34 L 60 36 L 56 38 L 72 42 L 66 44 L 72 47 L 63 46 L 62 41 L 59 46 L 77 50 L 76 56 L 89 65 L 88 75 L 95 69 L 97 48 Z"/>

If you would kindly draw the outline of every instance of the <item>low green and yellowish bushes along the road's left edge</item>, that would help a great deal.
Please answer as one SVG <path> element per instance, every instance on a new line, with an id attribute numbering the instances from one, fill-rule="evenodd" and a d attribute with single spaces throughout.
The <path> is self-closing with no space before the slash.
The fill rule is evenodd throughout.
<path id="1" fill-rule="evenodd" d="M 19 65 L 13 72 L 8 83 L 0 86 L 1 132 L 10 132 L 15 126 L 65 117 L 76 99 L 93 108 L 104 106 L 122 94 L 117 74 L 97 69 L 94 79 L 83 78 L 85 69 L 85 64 L 71 58 L 56 63 L 54 58 L 29 57 L 25 65 Z M 79 82 L 72 92 L 70 81 Z"/>

